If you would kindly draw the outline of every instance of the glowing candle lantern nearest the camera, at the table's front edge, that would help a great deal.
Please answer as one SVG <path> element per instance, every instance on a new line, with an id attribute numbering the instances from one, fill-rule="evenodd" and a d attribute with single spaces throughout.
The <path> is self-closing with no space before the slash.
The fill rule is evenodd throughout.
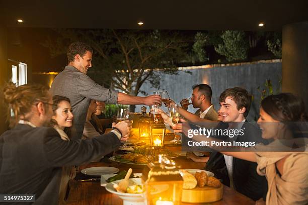
<path id="1" fill-rule="evenodd" d="M 159 155 L 143 169 L 146 205 L 179 205 L 182 198 L 183 178 L 174 161 Z"/>

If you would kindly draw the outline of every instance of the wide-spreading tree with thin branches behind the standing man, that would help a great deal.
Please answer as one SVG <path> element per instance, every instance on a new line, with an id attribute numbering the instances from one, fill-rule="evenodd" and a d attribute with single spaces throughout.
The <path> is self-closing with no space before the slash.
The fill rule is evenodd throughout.
<path id="1" fill-rule="evenodd" d="M 177 63 L 187 59 L 187 36 L 176 31 L 158 30 L 56 30 L 59 38 L 49 38 L 44 46 L 51 56 L 65 53 L 73 41 L 82 41 L 94 50 L 89 76 L 97 83 L 127 94 L 147 94 L 144 82 L 160 88 L 161 73 L 177 74 Z M 131 111 L 134 111 L 131 106 Z"/>

